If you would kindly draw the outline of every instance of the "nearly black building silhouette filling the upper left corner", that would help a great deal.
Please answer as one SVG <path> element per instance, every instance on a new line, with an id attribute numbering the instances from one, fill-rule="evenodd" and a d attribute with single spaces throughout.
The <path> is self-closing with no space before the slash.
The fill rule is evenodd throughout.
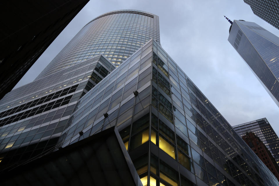
<path id="1" fill-rule="evenodd" d="M 0 99 L 89 0 L 1 1 Z"/>

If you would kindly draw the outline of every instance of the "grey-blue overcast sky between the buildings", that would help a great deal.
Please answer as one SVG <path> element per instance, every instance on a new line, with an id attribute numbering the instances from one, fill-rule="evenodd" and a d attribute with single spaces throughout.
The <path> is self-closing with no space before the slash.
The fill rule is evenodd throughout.
<path id="1" fill-rule="evenodd" d="M 243 0 L 89 1 L 42 54 L 16 87 L 33 81 L 76 33 L 95 17 L 120 9 L 159 16 L 160 42 L 203 94 L 233 126 L 266 117 L 279 134 L 279 108 L 228 42 L 229 19 L 279 30 L 253 14 Z"/>

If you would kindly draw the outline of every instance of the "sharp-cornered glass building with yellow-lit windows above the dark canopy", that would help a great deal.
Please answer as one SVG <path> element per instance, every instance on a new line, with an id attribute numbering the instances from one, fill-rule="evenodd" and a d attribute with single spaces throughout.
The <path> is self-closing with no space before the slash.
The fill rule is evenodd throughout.
<path id="1" fill-rule="evenodd" d="M 279 184 L 154 40 L 74 110 L 58 146 L 115 126 L 143 185 Z"/>

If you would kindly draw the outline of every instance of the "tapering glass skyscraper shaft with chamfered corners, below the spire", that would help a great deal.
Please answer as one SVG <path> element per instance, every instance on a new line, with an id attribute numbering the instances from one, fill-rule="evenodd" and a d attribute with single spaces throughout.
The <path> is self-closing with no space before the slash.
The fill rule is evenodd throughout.
<path id="1" fill-rule="evenodd" d="M 261 26 L 234 20 L 228 41 L 279 106 L 279 38 Z"/>

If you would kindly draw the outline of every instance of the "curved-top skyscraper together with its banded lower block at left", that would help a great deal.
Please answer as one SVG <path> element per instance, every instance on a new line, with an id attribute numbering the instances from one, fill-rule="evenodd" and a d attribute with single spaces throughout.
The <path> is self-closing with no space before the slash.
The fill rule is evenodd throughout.
<path id="1" fill-rule="evenodd" d="M 158 19 L 156 15 L 136 10 L 100 15 L 86 24 L 33 82 L 6 94 L 0 101 L 0 126 L 16 122 L 17 130 L 9 130 L 11 126 L 0 129 L 0 133 L 5 130 L 0 136 L 12 135 L 13 142 L 8 146 L 34 146 L 28 154 L 17 155 L 20 157 L 17 159 L 29 158 L 35 151 L 40 153 L 46 146 L 56 144 L 81 96 L 148 40 L 155 38 L 159 42 Z M 48 133 L 37 131 L 39 126 L 44 126 L 46 130 L 41 130 Z M 36 131 L 16 137 L 31 127 Z M 9 149 L 5 142 L 0 145 L 2 152 Z M 46 144 L 40 146 L 38 142 Z"/>

